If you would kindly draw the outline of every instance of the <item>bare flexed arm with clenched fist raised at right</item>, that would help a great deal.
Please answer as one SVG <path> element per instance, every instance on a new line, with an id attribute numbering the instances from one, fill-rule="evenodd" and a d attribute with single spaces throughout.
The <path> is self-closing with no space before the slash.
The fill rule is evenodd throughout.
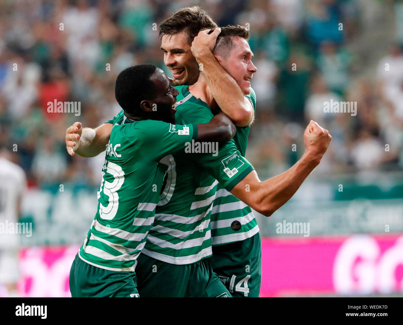
<path id="1" fill-rule="evenodd" d="M 270 217 L 297 192 L 305 178 L 320 163 L 332 137 L 327 130 L 311 121 L 305 129 L 304 140 L 305 154 L 291 169 L 263 182 L 256 171 L 251 171 L 230 192 L 262 215 Z M 245 190 L 247 188 L 248 192 Z"/>

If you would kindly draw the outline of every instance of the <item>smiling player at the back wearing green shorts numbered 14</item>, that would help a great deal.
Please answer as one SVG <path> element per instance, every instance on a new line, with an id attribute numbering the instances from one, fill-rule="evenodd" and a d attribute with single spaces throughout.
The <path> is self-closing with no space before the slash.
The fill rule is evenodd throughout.
<path id="1" fill-rule="evenodd" d="M 191 44 L 200 30 L 214 29 L 215 27 L 217 25 L 212 21 L 211 17 L 198 7 L 183 8 L 160 25 L 160 35 L 162 35 L 161 49 L 164 52 L 164 62 L 172 71 L 174 85 L 192 85 L 197 81 L 199 69 L 202 66 L 197 64 L 191 52 Z M 211 39 L 215 42 L 214 37 Z M 241 44 L 241 46 L 244 45 Z M 243 48 L 242 50 L 245 49 Z M 233 51 L 233 53 L 237 54 L 236 51 Z M 231 114 L 231 118 L 237 123 L 237 134 L 234 140 L 236 140 L 237 147 L 244 156 L 250 129 L 249 125 L 253 120 L 256 106 L 255 94 L 249 87 L 249 81 L 246 80 L 244 82 L 246 92 L 244 93 L 235 79 L 212 57 L 210 50 L 201 54 L 199 56 L 200 60 L 206 58 L 206 62 L 201 61 L 205 63 L 206 72 L 214 69 L 210 75 L 214 76 L 215 79 L 207 78 L 207 82 L 210 85 L 212 83 L 215 85 L 214 87 L 210 86 L 214 98 L 216 98 L 223 110 L 227 108 L 226 112 Z M 247 60 L 251 63 L 250 49 L 245 54 L 247 55 Z M 246 77 L 251 77 L 253 72 L 256 72 L 256 68 L 251 65 L 251 71 L 247 72 Z M 245 94 L 249 95 L 244 96 Z M 105 123 L 95 130 L 82 129 L 80 123 L 75 123 L 66 133 L 66 144 L 69 153 L 74 154 L 75 151 L 81 156 L 89 157 L 102 152 L 108 142 L 112 126 L 112 121 L 108 122 L 110 123 Z M 76 129 L 78 135 L 73 133 Z M 77 137 L 79 137 L 79 140 L 77 140 Z M 232 279 L 233 276 L 236 276 L 237 281 L 235 284 L 238 284 L 245 276 L 249 275 L 250 277 L 250 275 L 253 275 L 253 278 L 249 279 L 249 295 L 238 291 L 233 292 L 233 295 L 257 297 L 260 291 L 262 252 L 256 219 L 249 206 L 231 195 L 221 185 L 218 186 L 212 213 L 212 242 L 213 246 L 217 246 L 217 249 L 216 256 L 210 262 L 214 263 L 212 265 L 213 269 L 216 269 L 228 289 L 231 288 L 230 281 L 225 281 L 227 277 Z M 228 219 L 229 221 L 225 221 Z M 243 223 L 241 219 L 248 219 L 248 222 Z M 236 242 L 238 245 L 235 247 L 224 246 L 224 244 L 232 242 Z M 242 250 L 242 254 L 239 254 L 240 250 Z M 239 260 L 234 261 L 233 258 L 229 257 L 233 253 L 239 256 Z M 247 266 L 249 267 L 249 273 L 245 274 Z M 244 287 L 247 284 L 246 282 Z M 239 285 L 235 285 L 235 287 L 239 287 Z"/>

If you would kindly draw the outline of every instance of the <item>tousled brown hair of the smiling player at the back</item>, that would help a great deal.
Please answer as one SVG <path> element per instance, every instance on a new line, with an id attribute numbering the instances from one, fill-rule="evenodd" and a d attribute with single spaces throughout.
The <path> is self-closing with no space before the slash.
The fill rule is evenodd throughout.
<path id="1" fill-rule="evenodd" d="M 199 6 L 186 7 L 175 12 L 160 24 L 160 37 L 186 31 L 187 42 L 192 44 L 199 31 L 216 27 L 217 24 L 202 8 Z"/>

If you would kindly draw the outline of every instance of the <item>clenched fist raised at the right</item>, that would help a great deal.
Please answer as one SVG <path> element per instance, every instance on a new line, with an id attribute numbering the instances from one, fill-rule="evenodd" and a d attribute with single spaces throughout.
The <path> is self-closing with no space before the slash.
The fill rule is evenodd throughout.
<path id="1" fill-rule="evenodd" d="M 329 147 L 332 136 L 329 131 L 320 127 L 315 121 L 310 121 L 303 135 L 305 148 L 314 159 L 320 159 Z"/>

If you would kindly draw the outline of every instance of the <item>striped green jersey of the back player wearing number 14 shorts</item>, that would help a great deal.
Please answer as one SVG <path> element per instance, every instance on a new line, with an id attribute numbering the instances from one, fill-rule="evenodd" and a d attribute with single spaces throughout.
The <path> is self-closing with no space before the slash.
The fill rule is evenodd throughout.
<path id="1" fill-rule="evenodd" d="M 256 110 L 256 95 L 252 88 L 251 93 L 246 97 L 251 102 L 253 110 Z M 235 144 L 242 156 L 245 156 L 249 129 L 250 126 L 237 127 L 234 137 Z M 258 223 L 251 208 L 218 183 L 211 212 L 212 245 L 239 242 L 252 237 L 258 231 Z"/>

